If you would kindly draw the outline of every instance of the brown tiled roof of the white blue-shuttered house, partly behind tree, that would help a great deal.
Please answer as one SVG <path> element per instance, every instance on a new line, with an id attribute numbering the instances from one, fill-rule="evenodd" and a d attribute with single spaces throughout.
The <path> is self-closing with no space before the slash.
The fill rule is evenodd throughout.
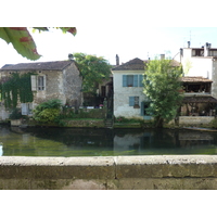
<path id="1" fill-rule="evenodd" d="M 145 65 L 150 60 L 142 61 L 138 58 L 114 67 L 112 71 L 144 71 Z M 173 60 L 173 66 L 180 66 L 180 63 Z"/>

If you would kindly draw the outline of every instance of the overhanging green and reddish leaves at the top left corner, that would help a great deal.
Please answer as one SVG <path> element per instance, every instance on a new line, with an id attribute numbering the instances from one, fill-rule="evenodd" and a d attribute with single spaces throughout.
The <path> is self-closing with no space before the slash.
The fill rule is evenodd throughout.
<path id="1" fill-rule="evenodd" d="M 63 33 L 76 35 L 75 27 L 52 27 L 60 28 Z M 48 27 L 33 27 L 34 30 L 49 31 Z M 0 27 L 0 38 L 8 43 L 12 43 L 14 49 L 24 58 L 29 60 L 38 60 L 41 55 L 38 54 L 36 43 L 29 34 L 27 27 Z"/>

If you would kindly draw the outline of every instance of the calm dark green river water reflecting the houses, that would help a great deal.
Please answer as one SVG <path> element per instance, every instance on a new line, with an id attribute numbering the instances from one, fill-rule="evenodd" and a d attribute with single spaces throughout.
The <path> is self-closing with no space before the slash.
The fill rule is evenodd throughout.
<path id="1" fill-rule="evenodd" d="M 0 127 L 0 155 L 217 154 L 217 132 L 155 129 Z"/>

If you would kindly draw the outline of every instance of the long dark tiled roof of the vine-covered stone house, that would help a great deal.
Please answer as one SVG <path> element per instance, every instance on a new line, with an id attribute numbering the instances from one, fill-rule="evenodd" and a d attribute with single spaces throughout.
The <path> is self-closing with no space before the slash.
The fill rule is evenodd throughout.
<path id="1" fill-rule="evenodd" d="M 73 61 L 34 62 L 4 65 L 0 71 L 63 71 Z"/>

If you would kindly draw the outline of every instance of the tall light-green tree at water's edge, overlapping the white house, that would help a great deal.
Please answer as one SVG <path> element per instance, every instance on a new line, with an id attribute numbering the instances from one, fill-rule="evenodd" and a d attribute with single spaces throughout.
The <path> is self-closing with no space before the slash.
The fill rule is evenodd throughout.
<path id="1" fill-rule="evenodd" d="M 144 72 L 144 94 L 150 99 L 146 112 L 155 118 L 155 126 L 176 117 L 182 101 L 180 76 L 182 68 L 174 66 L 171 60 L 153 60 Z"/>

